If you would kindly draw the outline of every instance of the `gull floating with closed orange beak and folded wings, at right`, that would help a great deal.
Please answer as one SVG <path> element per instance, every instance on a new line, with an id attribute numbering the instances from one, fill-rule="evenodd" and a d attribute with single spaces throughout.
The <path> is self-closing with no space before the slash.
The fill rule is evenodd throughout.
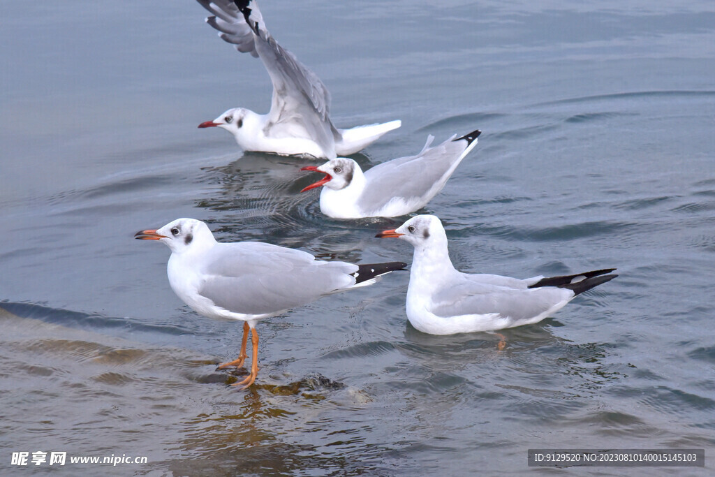
<path id="1" fill-rule="evenodd" d="M 573 297 L 613 280 L 615 268 L 562 277 L 527 278 L 469 274 L 455 269 L 447 235 L 434 215 L 417 215 L 376 237 L 407 240 L 415 247 L 407 318 L 423 333 L 453 335 L 538 323 Z"/>

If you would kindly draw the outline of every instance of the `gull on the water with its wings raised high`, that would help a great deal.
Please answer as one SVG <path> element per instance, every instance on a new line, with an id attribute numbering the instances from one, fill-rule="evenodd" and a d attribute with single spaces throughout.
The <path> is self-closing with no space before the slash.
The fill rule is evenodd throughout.
<path id="1" fill-rule="evenodd" d="M 260 57 L 273 83 L 268 114 L 232 108 L 199 127 L 221 127 L 245 151 L 316 159 L 355 154 L 400 121 L 337 129 L 330 121 L 330 93 L 315 73 L 283 49 L 263 22 L 255 0 L 197 0 L 212 16 L 206 21 L 238 51 Z"/>

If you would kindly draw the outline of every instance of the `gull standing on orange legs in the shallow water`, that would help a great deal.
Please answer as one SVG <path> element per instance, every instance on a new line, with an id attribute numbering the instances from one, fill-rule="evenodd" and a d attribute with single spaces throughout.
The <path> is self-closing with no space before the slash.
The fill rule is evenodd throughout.
<path id="1" fill-rule="evenodd" d="M 177 219 L 158 230 L 142 230 L 139 240 L 159 240 L 172 251 L 169 285 L 199 315 L 243 322 L 241 352 L 220 369 L 242 367 L 248 331 L 253 346 L 250 374 L 234 385 L 248 388 L 258 374 L 256 324 L 318 298 L 375 282 L 404 262 L 354 265 L 315 260 L 310 253 L 263 242 L 217 242 L 200 220 Z"/>

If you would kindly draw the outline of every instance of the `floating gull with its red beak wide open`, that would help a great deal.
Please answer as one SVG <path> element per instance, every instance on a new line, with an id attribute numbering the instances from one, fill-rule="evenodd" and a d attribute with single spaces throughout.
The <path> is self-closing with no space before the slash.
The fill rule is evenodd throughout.
<path id="1" fill-rule="evenodd" d="M 335 219 L 360 217 L 398 217 L 415 212 L 442 190 L 459 163 L 477 145 L 478 129 L 442 144 L 425 147 L 416 156 L 400 157 L 378 164 L 363 172 L 357 162 L 338 157 L 320 166 L 302 171 L 325 174 L 318 182 L 300 192 L 323 186 L 320 210 Z"/>

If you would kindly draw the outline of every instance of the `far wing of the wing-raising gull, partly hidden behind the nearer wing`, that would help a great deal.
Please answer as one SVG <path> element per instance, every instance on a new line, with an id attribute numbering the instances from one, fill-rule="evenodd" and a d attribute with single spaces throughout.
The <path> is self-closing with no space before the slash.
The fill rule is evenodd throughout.
<path id="1" fill-rule="evenodd" d="M 224 41 L 234 45 L 242 53 L 250 53 L 255 58 L 258 57 L 253 31 L 232 0 L 197 1 L 212 14 L 206 22 L 219 31 L 219 36 Z M 255 15 L 260 16 L 258 7 L 255 7 L 255 11 Z"/>

